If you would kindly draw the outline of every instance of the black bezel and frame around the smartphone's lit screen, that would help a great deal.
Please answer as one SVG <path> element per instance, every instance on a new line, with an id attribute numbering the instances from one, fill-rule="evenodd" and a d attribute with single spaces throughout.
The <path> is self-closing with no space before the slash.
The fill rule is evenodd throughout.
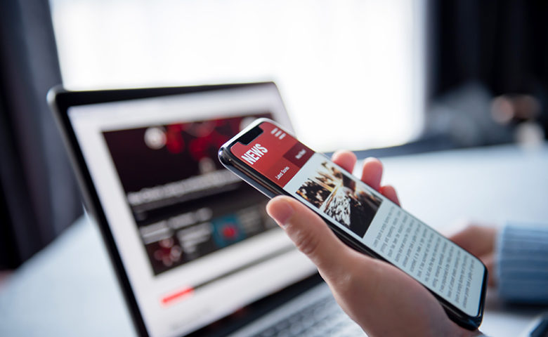
<path id="1" fill-rule="evenodd" d="M 249 126 L 244 128 L 244 130 L 240 131 L 240 133 L 238 133 L 236 136 L 228 140 L 227 143 L 221 146 L 221 148 L 218 151 L 219 160 L 221 161 L 223 166 L 225 166 L 229 171 L 235 173 L 235 175 L 239 176 L 242 180 L 244 180 L 246 183 L 249 183 L 249 185 L 252 185 L 254 188 L 256 188 L 256 190 L 259 190 L 259 192 L 265 194 L 267 197 L 273 198 L 277 195 L 287 195 L 289 197 L 296 199 L 296 197 L 294 197 L 292 194 L 289 194 L 289 192 L 286 192 L 285 190 L 283 190 L 282 187 L 279 187 L 278 185 L 273 183 L 272 180 L 266 178 L 266 176 L 263 176 L 263 174 L 259 173 L 258 171 L 255 171 L 249 165 L 244 164 L 242 160 L 240 160 L 235 154 L 233 154 L 230 151 L 231 147 L 235 145 L 235 143 L 238 143 L 240 141 L 240 138 L 244 137 L 249 131 L 251 131 L 253 128 L 261 125 L 264 122 L 273 124 L 277 126 L 278 128 L 282 129 L 283 131 L 285 131 L 286 133 L 288 133 L 289 135 L 293 136 L 292 133 L 287 132 L 285 128 L 280 126 L 275 121 L 272 121 L 266 118 L 256 119 L 256 121 L 254 121 L 252 124 L 249 124 Z M 318 152 L 315 152 L 315 153 L 318 153 Z M 308 206 L 308 208 L 312 209 L 310 206 Z M 355 238 L 351 237 L 348 233 L 344 232 L 344 230 L 341 230 L 339 228 L 339 225 L 334 224 L 332 220 L 330 220 L 329 218 L 326 218 L 325 216 L 322 216 L 322 214 L 316 211 L 315 209 L 312 209 L 312 210 L 315 211 L 315 213 L 317 213 L 325 221 L 325 223 L 327 223 L 327 225 L 337 235 L 337 237 L 339 237 L 339 239 L 341 239 L 346 245 L 350 246 L 352 249 L 355 249 L 356 251 L 360 251 L 361 253 L 365 253 L 374 258 L 379 258 L 380 260 L 383 260 L 386 263 L 390 263 L 388 260 L 380 256 L 379 254 L 369 249 L 363 243 L 358 242 Z M 474 254 L 471 254 L 471 255 L 474 256 Z M 481 262 L 479 258 L 478 260 Z M 483 310 L 485 308 L 485 294 L 487 292 L 488 270 L 483 263 L 481 263 L 481 265 L 483 265 L 483 283 L 481 286 L 480 303 L 478 305 L 478 315 L 474 317 L 467 315 L 465 312 L 455 307 L 455 305 L 452 305 L 452 303 L 450 303 L 448 300 L 445 300 L 445 298 L 442 298 L 438 294 L 434 293 L 427 286 L 424 286 L 424 284 L 422 284 L 441 303 L 448 317 L 450 317 L 450 319 L 452 319 L 453 322 L 469 330 L 478 329 L 478 326 L 480 326 L 481 321 L 483 319 Z"/>

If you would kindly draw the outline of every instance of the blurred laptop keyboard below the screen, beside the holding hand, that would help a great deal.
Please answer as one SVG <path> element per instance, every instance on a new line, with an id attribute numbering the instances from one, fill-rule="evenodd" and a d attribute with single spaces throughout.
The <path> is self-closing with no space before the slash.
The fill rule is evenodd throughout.
<path id="1" fill-rule="evenodd" d="M 256 336 L 365 336 L 358 324 L 355 324 L 341 310 L 332 296 L 321 298 L 306 306 L 287 319 L 282 319 L 264 329 Z"/>

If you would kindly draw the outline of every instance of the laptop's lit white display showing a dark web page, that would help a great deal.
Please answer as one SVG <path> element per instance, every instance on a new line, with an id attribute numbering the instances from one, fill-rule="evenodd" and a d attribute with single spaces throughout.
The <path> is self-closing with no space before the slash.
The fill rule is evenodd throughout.
<path id="1" fill-rule="evenodd" d="M 289 127 L 273 85 L 69 107 L 68 117 L 151 336 L 181 336 L 315 268 L 222 168 L 256 117 Z"/>

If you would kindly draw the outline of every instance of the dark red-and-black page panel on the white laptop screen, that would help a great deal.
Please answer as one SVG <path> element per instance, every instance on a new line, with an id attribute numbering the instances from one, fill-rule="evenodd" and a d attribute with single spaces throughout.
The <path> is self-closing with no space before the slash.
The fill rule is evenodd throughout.
<path id="1" fill-rule="evenodd" d="M 216 158 L 256 117 L 271 115 L 103 131 L 155 275 L 276 227 L 258 193 Z"/>

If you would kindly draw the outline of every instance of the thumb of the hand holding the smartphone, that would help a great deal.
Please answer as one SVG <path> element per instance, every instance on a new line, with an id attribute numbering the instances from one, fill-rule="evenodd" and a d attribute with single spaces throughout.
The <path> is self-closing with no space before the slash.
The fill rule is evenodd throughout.
<path id="1" fill-rule="evenodd" d="M 266 212 L 285 230 L 297 249 L 312 260 L 322 277 L 337 277 L 348 269 L 345 265 L 351 249 L 304 204 L 291 197 L 275 197 L 268 202 Z"/>

